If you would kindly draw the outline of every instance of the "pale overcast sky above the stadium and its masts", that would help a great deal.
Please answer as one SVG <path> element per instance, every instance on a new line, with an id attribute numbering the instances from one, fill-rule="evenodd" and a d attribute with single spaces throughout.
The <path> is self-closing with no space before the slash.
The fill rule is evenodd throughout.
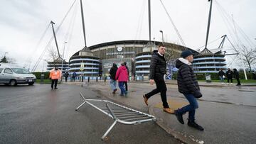
<path id="1" fill-rule="evenodd" d="M 0 58 L 9 57 L 18 65 L 30 68 L 36 64 L 43 50 L 53 48 L 54 41 L 48 42 L 53 36 L 49 27 L 50 21 L 55 23 L 55 31 L 60 26 L 65 14 L 75 0 L 0 0 Z M 203 50 L 206 43 L 206 28 L 210 2 L 208 0 L 162 0 L 178 32 L 188 48 Z M 147 0 L 82 0 L 87 46 L 114 40 L 149 40 Z M 230 30 L 223 19 L 225 9 L 233 16 L 237 26 L 247 35 L 255 46 L 256 43 L 256 1 L 254 0 L 213 0 L 213 11 L 210 23 L 208 49 L 218 48 L 222 35 Z M 164 11 L 160 0 L 151 0 L 151 40 L 181 44 L 174 26 Z M 43 35 L 43 33 L 45 35 Z M 84 46 L 80 1 L 76 0 L 65 21 L 56 31 L 60 54 L 68 59 Z M 65 44 L 65 42 L 67 42 Z M 47 46 L 48 45 L 48 46 Z M 246 43 L 245 43 L 246 45 Z M 230 50 L 226 41 L 224 47 Z M 8 53 L 6 53 L 8 52 Z M 230 53 L 230 51 L 228 51 Z M 36 71 L 46 69 L 49 60 L 48 50 L 42 57 Z M 238 66 L 234 57 L 226 57 L 232 67 Z"/>

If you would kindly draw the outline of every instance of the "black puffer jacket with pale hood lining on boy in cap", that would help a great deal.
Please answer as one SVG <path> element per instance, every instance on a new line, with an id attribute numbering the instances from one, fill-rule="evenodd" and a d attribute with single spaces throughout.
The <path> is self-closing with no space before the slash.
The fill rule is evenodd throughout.
<path id="1" fill-rule="evenodd" d="M 191 67 L 191 62 L 179 58 L 176 60 L 176 67 L 178 68 L 178 92 L 181 92 L 182 94 L 194 94 L 195 97 L 202 95 L 196 80 L 196 75 Z"/>

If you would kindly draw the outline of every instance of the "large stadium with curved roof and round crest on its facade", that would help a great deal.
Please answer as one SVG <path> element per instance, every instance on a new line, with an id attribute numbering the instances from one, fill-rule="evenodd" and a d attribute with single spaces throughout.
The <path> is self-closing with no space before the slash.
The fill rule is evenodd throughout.
<path id="1" fill-rule="evenodd" d="M 92 45 L 88 47 L 92 52 L 90 55 L 82 55 L 81 50 L 75 52 L 69 60 L 68 72 L 75 71 L 77 74 L 81 74 L 80 66 L 83 62 L 84 67 L 87 67 L 87 70 L 83 71 L 85 75 L 93 77 L 109 75 L 113 63 L 119 66 L 122 62 L 127 62 L 130 76 L 141 76 L 142 74 L 147 76 L 149 75 L 151 52 L 154 49 L 157 50 L 157 45 L 161 44 L 159 41 L 149 45 L 148 40 L 120 40 Z M 185 49 L 185 47 L 173 43 L 165 43 L 165 45 L 166 51 L 173 59 L 180 57 L 181 51 Z M 191 51 L 198 54 L 195 50 Z"/>

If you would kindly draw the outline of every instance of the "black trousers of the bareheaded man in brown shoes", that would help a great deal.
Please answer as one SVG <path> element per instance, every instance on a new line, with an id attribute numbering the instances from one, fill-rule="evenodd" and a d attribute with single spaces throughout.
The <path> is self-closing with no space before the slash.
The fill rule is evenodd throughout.
<path id="1" fill-rule="evenodd" d="M 167 98 L 166 98 L 166 84 L 164 82 L 164 75 L 161 77 L 156 77 L 156 79 L 154 79 L 154 81 L 156 82 L 156 89 L 153 89 L 151 92 L 145 94 L 146 98 L 149 99 L 151 96 L 153 96 L 154 94 L 157 94 L 160 92 L 161 94 L 161 100 L 163 102 L 163 106 L 164 108 L 169 108 L 169 105 L 167 103 Z"/>

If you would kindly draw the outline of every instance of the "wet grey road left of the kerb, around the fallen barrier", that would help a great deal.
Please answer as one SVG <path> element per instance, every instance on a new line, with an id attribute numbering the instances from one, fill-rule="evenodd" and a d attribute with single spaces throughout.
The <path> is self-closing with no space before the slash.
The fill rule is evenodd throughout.
<path id="1" fill-rule="evenodd" d="M 0 86 L 0 143 L 180 143 L 154 122 L 117 123 L 104 142 L 100 138 L 113 120 L 88 105 L 75 111 L 80 92 L 90 99 L 102 96 L 86 87 L 58 87 Z"/>

